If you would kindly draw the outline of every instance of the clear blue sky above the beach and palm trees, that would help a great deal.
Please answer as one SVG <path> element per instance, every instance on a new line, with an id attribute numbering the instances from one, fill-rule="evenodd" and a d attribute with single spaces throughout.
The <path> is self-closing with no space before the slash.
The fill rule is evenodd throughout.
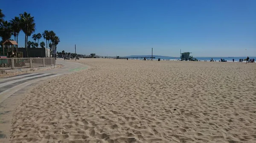
<path id="1" fill-rule="evenodd" d="M 55 31 L 58 51 L 256 56 L 256 0 L 3 0 L 1 8 L 5 20 L 32 14 L 35 33 Z"/>

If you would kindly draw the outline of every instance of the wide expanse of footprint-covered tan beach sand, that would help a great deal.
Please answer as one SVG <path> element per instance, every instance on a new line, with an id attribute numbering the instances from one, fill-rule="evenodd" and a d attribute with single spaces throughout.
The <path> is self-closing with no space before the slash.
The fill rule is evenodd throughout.
<path id="1" fill-rule="evenodd" d="M 24 95 L 11 143 L 256 143 L 256 64 L 76 62 Z"/>

